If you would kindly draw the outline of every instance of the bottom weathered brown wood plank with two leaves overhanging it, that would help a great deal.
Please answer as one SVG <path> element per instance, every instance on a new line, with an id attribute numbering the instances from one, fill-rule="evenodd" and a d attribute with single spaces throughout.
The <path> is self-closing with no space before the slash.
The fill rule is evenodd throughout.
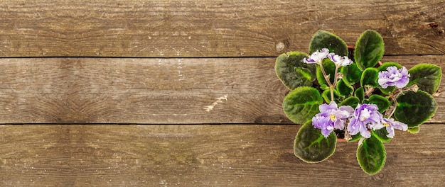
<path id="1" fill-rule="evenodd" d="M 1 186 L 441 186 L 445 125 L 397 131 L 375 176 L 357 144 L 294 157 L 299 125 L 2 125 Z"/>

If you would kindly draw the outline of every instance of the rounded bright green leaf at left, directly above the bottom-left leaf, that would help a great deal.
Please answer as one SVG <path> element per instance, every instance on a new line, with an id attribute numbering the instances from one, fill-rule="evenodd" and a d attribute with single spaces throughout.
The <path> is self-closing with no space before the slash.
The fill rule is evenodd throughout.
<path id="1" fill-rule="evenodd" d="M 309 86 L 301 86 L 284 97 L 283 109 L 292 122 L 303 124 L 319 113 L 318 106 L 323 103 L 320 92 Z"/>

